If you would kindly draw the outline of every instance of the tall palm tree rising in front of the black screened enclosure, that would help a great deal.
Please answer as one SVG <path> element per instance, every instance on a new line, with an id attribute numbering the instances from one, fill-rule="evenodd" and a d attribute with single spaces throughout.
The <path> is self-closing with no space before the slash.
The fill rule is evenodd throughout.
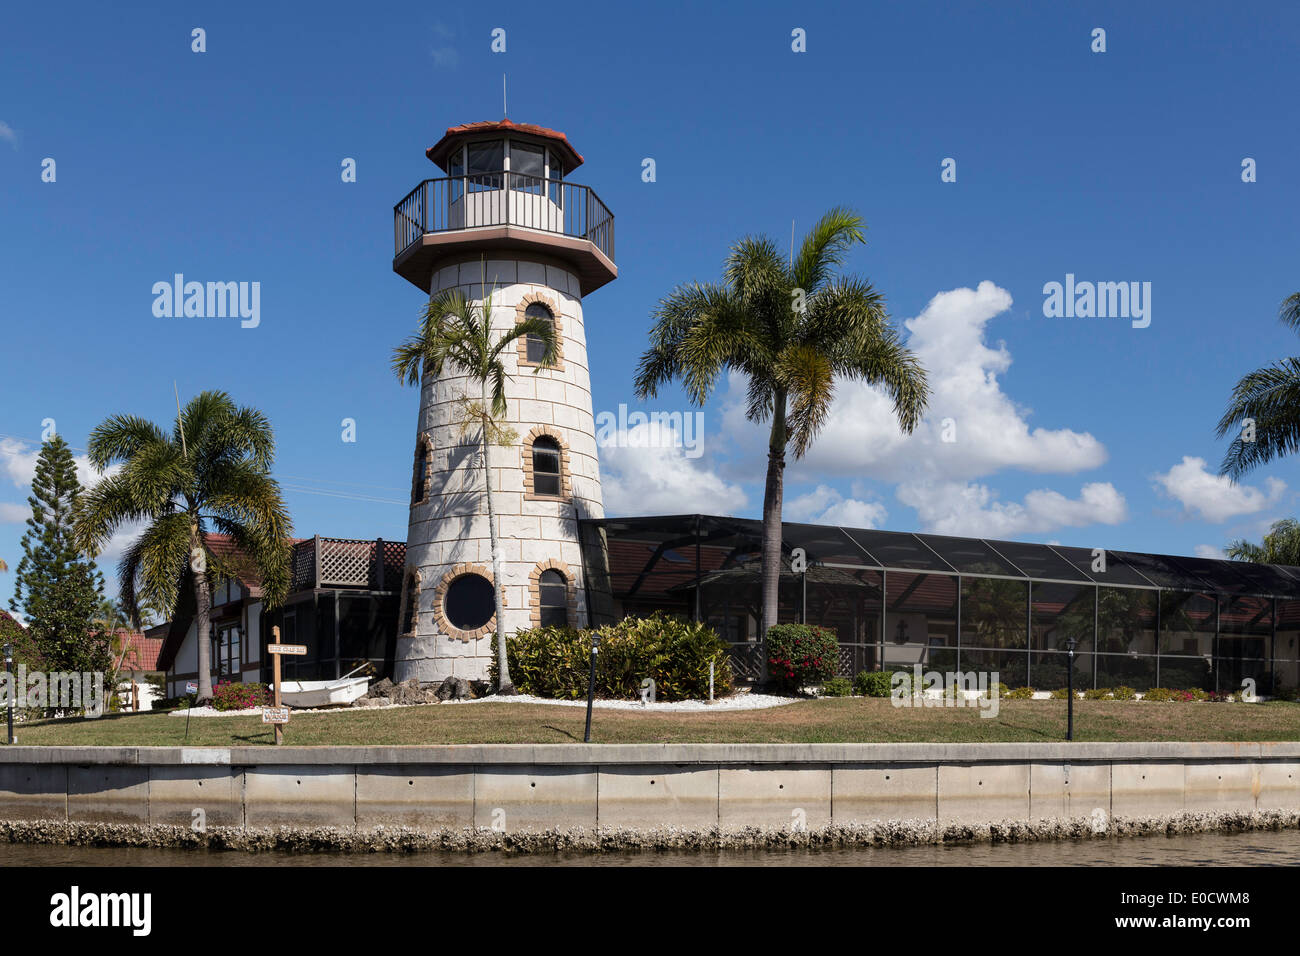
<path id="1" fill-rule="evenodd" d="M 771 419 L 763 490 L 763 619 L 776 623 L 781 572 L 785 453 L 802 458 L 831 412 L 837 378 L 879 385 L 911 432 L 930 398 L 926 371 L 890 325 L 884 297 L 870 282 L 833 273 L 864 242 L 862 217 L 831 209 L 790 259 L 767 237 L 746 237 L 727 259 L 720 284 L 677 286 L 660 300 L 641 356 L 641 399 L 680 378 L 703 405 L 723 371 L 749 378 L 746 416 Z M 766 654 L 764 675 L 766 675 Z"/>

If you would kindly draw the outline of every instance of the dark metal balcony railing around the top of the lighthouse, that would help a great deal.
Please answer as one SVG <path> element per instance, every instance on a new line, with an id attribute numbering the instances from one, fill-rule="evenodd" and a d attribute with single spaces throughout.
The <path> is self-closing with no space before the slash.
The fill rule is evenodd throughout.
<path id="1" fill-rule="evenodd" d="M 573 182 L 508 170 L 425 179 L 393 213 L 394 255 L 428 233 L 511 225 L 588 239 L 614 259 L 614 213 Z"/>

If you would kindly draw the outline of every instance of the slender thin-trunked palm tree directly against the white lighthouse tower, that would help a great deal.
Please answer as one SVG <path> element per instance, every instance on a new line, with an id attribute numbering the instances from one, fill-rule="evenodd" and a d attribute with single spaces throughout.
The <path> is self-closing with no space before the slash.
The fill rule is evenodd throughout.
<path id="1" fill-rule="evenodd" d="M 497 545 L 497 511 L 493 505 L 491 468 L 488 467 L 493 445 L 514 445 L 519 436 L 504 424 L 506 418 L 506 365 L 502 355 L 515 347 L 521 336 L 534 336 L 542 342 L 541 368 L 555 364 L 556 346 L 551 324 L 545 319 L 525 319 L 493 338 L 491 299 L 489 291 L 482 304 L 467 299 L 456 289 L 448 289 L 429 300 L 419 330 L 393 350 L 393 372 L 404 385 L 419 385 L 425 376 L 437 378 L 447 363 L 456 367 L 472 381 L 478 382 L 481 398 L 468 393 L 462 397 L 463 434 L 477 431 L 478 450 L 484 470 L 484 493 L 488 498 L 488 535 L 491 538 L 493 597 L 497 605 L 497 693 L 512 695 L 506 663 L 506 602 L 500 549 Z"/>

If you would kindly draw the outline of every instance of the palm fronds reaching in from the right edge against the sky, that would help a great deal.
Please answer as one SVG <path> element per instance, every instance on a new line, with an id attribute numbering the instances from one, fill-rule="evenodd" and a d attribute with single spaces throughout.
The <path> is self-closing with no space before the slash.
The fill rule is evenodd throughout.
<path id="1" fill-rule="evenodd" d="M 1300 293 L 1286 298 L 1278 319 L 1300 332 Z M 1247 423 L 1251 419 L 1251 423 Z M 1216 434 L 1236 433 L 1219 467 L 1234 481 L 1300 447 L 1300 356 L 1279 359 L 1242 377 Z"/>

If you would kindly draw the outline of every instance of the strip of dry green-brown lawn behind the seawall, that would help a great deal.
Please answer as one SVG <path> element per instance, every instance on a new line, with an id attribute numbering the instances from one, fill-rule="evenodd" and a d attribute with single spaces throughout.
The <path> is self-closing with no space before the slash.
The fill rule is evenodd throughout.
<path id="1" fill-rule="evenodd" d="M 1065 701 L 1001 701 L 978 709 L 894 708 L 888 698 L 807 700 L 771 710 L 637 713 L 601 710 L 592 739 L 634 743 L 1014 743 L 1065 739 Z M 582 708 L 441 704 L 298 714 L 286 744 L 569 744 L 582 740 Z M 20 744 L 90 747 L 250 747 L 272 744 L 259 717 L 108 714 L 16 727 Z M 1076 701 L 1076 740 L 1300 740 L 1300 704 Z"/>

